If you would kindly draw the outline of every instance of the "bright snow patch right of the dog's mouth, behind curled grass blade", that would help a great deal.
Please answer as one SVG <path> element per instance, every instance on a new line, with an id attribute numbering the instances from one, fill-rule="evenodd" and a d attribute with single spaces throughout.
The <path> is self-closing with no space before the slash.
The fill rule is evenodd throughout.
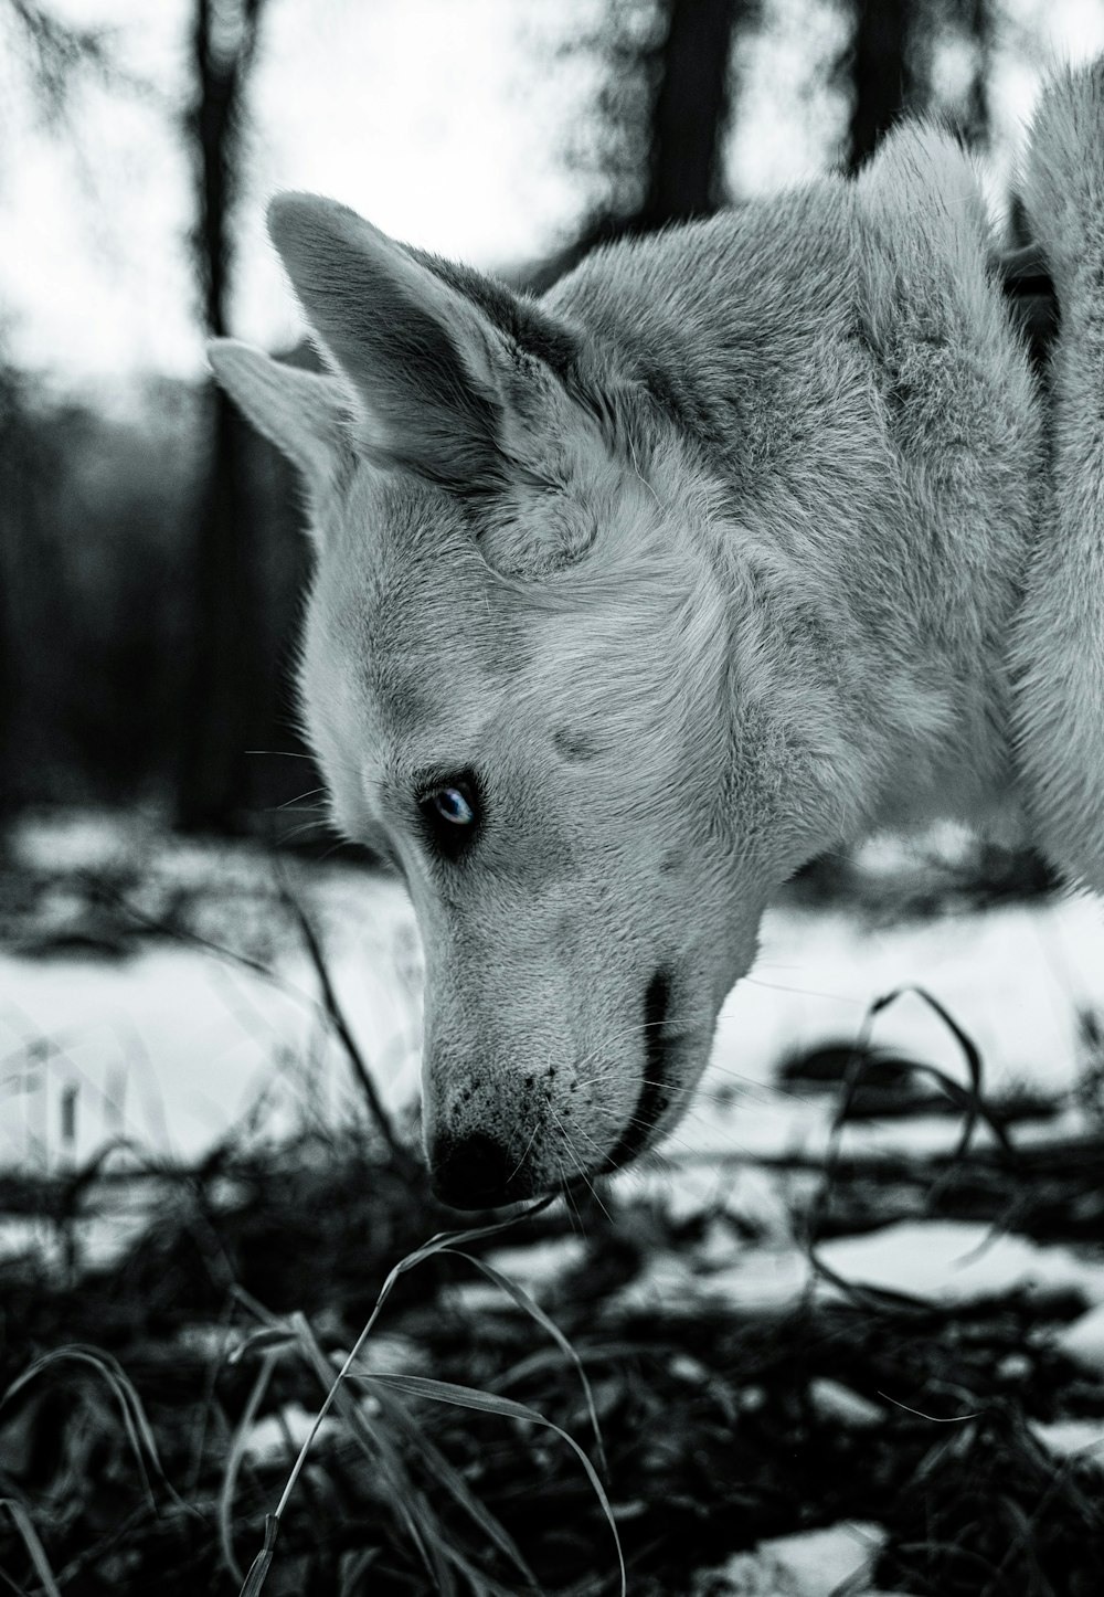
<path id="1" fill-rule="evenodd" d="M 822 1153 L 834 1105 L 823 1094 L 783 1096 L 774 1065 L 790 1051 L 854 1043 L 869 1005 L 903 987 L 930 992 L 972 1038 L 983 1091 L 1069 1092 L 1083 1057 L 1078 1009 L 1104 1005 L 1104 905 L 1070 896 L 881 929 L 839 913 L 771 912 L 761 957 L 721 1011 L 697 1108 L 673 1151 Z M 968 1084 L 959 1043 L 916 993 L 877 1016 L 871 1040 Z M 1064 1121 L 1031 1135 L 1069 1129 Z M 954 1116 L 863 1123 L 844 1131 L 842 1148 L 935 1153 L 952 1148 L 959 1132 Z M 980 1127 L 978 1139 L 989 1132 Z"/>

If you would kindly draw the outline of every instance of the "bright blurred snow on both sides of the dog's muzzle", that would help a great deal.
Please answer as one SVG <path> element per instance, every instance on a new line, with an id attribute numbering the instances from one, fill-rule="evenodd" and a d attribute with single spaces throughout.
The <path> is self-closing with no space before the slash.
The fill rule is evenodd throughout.
<path id="1" fill-rule="evenodd" d="M 24 846 L 54 864 L 65 846 L 91 846 L 86 835 L 67 837 L 27 834 Z M 101 853 L 108 843 L 101 838 Z M 193 866 L 211 870 L 211 856 Z M 383 1097 L 407 1105 L 418 1075 L 418 944 L 405 894 L 392 880 L 348 870 L 300 882 Z M 113 961 L 0 955 L 0 1167 L 81 1164 L 123 1137 L 196 1158 L 231 1129 L 279 1135 L 348 1113 L 356 1086 L 294 937 L 271 971 L 185 942 Z M 729 1164 L 743 1153 L 822 1148 L 831 1097 L 780 1088 L 779 1059 L 854 1041 L 873 1000 L 914 985 L 976 1043 L 986 1091 L 1067 1092 L 1086 1064 L 1078 1011 L 1104 1014 L 1104 907 L 1070 896 L 884 929 L 844 913 L 771 912 L 759 961 L 721 1014 L 697 1105 L 668 1142 L 672 1159 Z M 916 995 L 877 1016 L 873 1040 L 967 1081 L 957 1041 Z M 1056 1129 L 1069 1131 L 1069 1119 L 1023 1134 Z M 952 1118 L 913 1116 L 865 1123 L 847 1137 L 919 1150 L 949 1147 L 957 1132 Z"/>

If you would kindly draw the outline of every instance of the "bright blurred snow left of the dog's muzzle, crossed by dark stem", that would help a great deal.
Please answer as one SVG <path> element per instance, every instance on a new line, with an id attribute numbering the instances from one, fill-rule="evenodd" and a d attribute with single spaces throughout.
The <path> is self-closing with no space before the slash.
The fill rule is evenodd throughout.
<path id="1" fill-rule="evenodd" d="M 396 883 L 365 885 L 332 968 L 391 1108 L 416 1094 L 416 1017 L 396 969 L 408 920 Z M 0 1167 L 32 1169 L 120 1139 L 195 1159 L 250 1118 L 278 1137 L 356 1104 L 305 953 L 265 979 L 183 944 L 112 963 L 0 955 Z"/>

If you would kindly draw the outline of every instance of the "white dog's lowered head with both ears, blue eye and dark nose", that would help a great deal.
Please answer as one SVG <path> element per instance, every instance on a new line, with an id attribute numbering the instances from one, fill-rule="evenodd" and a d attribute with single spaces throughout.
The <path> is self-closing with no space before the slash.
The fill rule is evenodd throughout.
<path id="1" fill-rule="evenodd" d="M 270 230 L 329 375 L 212 364 L 306 481 L 306 727 L 415 904 L 437 1190 L 589 1179 L 684 1112 L 769 891 L 846 805 L 833 707 L 780 663 L 769 554 L 568 316 L 330 201 Z"/>

